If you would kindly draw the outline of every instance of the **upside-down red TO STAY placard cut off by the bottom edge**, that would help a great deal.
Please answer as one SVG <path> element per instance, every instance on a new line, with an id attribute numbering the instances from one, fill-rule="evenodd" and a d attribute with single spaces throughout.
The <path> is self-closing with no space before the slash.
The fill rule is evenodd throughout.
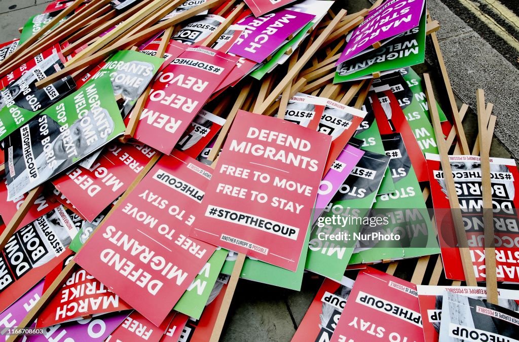
<path id="1" fill-rule="evenodd" d="M 416 285 L 368 267 L 359 272 L 331 342 L 424 341 Z"/>

